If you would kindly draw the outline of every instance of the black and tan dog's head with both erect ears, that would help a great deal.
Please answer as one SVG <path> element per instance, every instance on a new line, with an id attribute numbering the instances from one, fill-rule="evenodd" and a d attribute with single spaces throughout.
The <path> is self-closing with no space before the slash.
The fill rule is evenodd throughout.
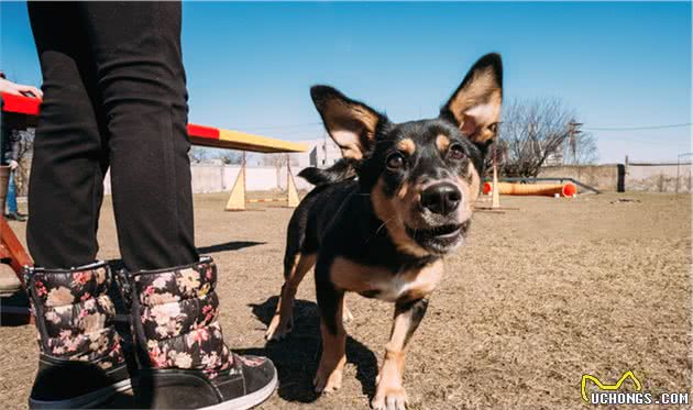
<path id="1" fill-rule="evenodd" d="M 501 56 L 470 69 L 436 119 L 393 123 L 338 90 L 310 90 L 330 136 L 356 170 L 403 252 L 443 255 L 464 240 L 502 100 Z"/>

